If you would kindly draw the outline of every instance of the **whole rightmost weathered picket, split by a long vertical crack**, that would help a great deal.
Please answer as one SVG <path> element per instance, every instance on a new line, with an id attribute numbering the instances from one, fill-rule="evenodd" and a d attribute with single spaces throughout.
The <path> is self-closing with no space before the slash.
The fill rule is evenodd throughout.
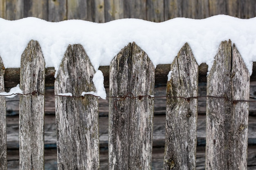
<path id="1" fill-rule="evenodd" d="M 230 40 L 220 44 L 207 95 L 206 169 L 247 169 L 249 104 L 239 100 L 249 100 L 249 73 Z"/>

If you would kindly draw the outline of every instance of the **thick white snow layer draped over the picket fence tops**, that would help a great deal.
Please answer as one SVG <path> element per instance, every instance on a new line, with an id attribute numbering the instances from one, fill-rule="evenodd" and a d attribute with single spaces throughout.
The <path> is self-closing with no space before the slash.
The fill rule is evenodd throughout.
<path id="1" fill-rule="evenodd" d="M 140 46 L 155 66 L 171 64 L 188 42 L 198 64 L 205 62 L 210 70 L 221 41 L 229 39 L 236 44 L 252 74 L 252 62 L 256 61 L 256 18 L 216 15 L 202 20 L 175 18 L 155 23 L 121 19 L 102 24 L 83 20 L 47 22 L 31 17 L 15 21 L 0 18 L 0 56 L 6 68 L 20 67 L 20 56 L 28 42 L 37 40 L 46 67 L 53 66 L 56 71 L 69 44 L 82 44 L 97 71 L 99 66 L 109 65 L 129 42 Z M 98 74 L 95 76 L 101 81 L 97 80 L 99 83 L 95 86 L 102 94 L 103 76 Z"/>

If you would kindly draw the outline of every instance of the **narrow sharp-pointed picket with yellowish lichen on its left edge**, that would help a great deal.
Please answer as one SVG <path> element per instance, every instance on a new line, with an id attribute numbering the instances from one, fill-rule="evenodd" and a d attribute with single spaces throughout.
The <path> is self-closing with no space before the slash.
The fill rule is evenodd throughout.
<path id="1" fill-rule="evenodd" d="M 185 44 L 171 64 L 167 82 L 164 170 L 195 170 L 198 64 Z"/>

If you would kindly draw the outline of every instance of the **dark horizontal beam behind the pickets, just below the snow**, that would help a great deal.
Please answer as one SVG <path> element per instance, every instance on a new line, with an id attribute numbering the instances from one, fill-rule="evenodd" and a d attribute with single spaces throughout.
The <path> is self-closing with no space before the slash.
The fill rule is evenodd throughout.
<path id="1" fill-rule="evenodd" d="M 166 84 L 167 75 L 170 71 L 171 64 L 159 64 L 155 69 L 155 84 Z M 198 81 L 206 82 L 208 66 L 205 63 L 200 64 Z M 102 71 L 104 76 L 104 86 L 109 85 L 109 66 L 100 66 L 99 70 Z M 46 68 L 45 71 L 45 86 L 54 86 L 55 70 L 53 67 Z M 256 62 L 253 63 L 253 71 L 251 81 L 256 81 Z M 20 68 L 6 68 L 4 74 L 4 86 L 14 87 L 20 83 Z"/>

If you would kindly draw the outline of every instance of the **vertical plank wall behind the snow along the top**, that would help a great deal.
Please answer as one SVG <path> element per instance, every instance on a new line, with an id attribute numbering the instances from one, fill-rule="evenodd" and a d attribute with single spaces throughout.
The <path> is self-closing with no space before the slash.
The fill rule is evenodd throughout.
<path id="1" fill-rule="evenodd" d="M 177 17 L 202 19 L 225 14 L 238 18 L 256 16 L 255 0 L 1 0 L 0 18 L 29 16 L 51 22 L 81 19 L 108 22 L 139 18 L 163 22 Z"/>

